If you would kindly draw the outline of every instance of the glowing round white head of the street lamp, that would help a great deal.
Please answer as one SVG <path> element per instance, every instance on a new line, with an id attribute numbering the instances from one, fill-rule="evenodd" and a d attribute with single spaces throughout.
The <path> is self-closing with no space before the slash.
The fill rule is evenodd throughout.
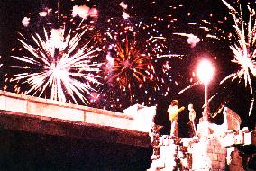
<path id="1" fill-rule="evenodd" d="M 207 60 L 202 60 L 197 67 L 197 76 L 204 84 L 208 84 L 214 75 L 214 67 Z"/>

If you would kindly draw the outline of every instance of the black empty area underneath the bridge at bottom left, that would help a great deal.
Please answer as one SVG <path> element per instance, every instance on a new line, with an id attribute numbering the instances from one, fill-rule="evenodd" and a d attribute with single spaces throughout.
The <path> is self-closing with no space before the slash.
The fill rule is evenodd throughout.
<path id="1" fill-rule="evenodd" d="M 144 171 L 151 148 L 0 128 L 0 170 Z"/>

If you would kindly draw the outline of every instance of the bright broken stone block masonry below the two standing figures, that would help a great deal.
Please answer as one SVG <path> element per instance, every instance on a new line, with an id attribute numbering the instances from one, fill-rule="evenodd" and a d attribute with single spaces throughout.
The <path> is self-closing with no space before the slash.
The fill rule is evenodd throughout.
<path id="1" fill-rule="evenodd" d="M 234 123 L 227 121 L 223 125 L 216 125 L 201 122 L 197 125 L 198 137 L 190 139 L 161 136 L 159 143 L 155 143 L 160 146 L 160 157 L 152 160 L 152 164 L 157 166 L 157 163 L 164 163 L 164 168 L 160 170 L 243 171 L 249 168 L 249 161 L 252 163 L 256 154 L 242 155 L 235 147 L 250 145 L 254 147 L 251 147 L 251 153 L 253 149 L 256 151 L 255 131 L 228 130 L 237 129 L 240 120 L 231 110 L 225 110 Z M 154 168 L 151 170 L 158 170 Z"/>

